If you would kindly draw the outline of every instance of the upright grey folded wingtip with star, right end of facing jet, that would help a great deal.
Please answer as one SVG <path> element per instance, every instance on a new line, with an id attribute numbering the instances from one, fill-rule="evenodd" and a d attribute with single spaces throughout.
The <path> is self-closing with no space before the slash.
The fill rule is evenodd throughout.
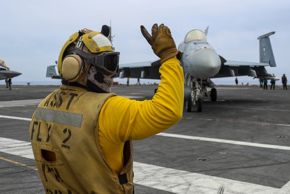
<path id="1" fill-rule="evenodd" d="M 269 36 L 275 32 L 270 32 L 268 34 L 258 37 L 260 42 L 260 63 L 268 63 L 271 67 L 276 67 L 274 54 L 271 47 L 271 42 Z"/>

